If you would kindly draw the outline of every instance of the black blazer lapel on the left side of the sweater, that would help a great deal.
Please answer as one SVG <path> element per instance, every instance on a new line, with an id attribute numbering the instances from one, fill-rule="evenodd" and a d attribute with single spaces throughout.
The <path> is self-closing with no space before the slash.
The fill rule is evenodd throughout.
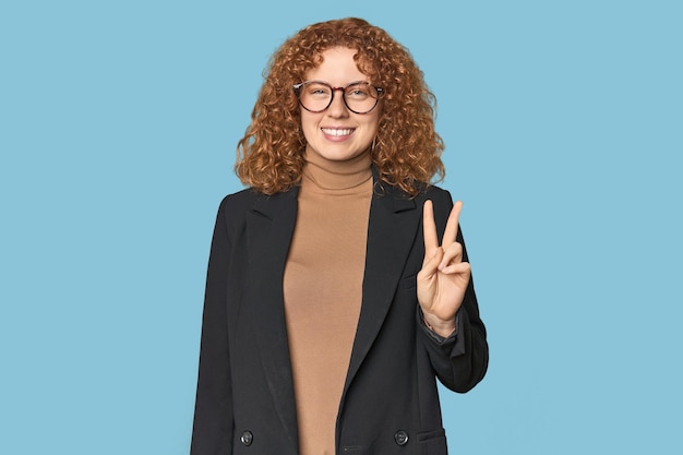
<path id="1" fill-rule="evenodd" d="M 268 388 L 295 451 L 299 452 L 297 415 L 283 296 L 283 274 L 297 218 L 297 194 L 256 200 L 248 214 L 249 297 L 254 336 Z M 283 451 L 287 453 L 287 451 Z"/>

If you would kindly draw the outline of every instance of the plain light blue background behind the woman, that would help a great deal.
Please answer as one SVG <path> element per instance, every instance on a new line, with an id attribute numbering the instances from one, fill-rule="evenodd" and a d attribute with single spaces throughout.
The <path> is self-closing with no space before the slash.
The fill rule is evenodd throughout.
<path id="1" fill-rule="evenodd" d="M 454 454 L 683 453 L 679 1 L 0 5 L 0 453 L 187 454 L 267 58 L 358 15 L 439 100 L 490 333 Z"/>

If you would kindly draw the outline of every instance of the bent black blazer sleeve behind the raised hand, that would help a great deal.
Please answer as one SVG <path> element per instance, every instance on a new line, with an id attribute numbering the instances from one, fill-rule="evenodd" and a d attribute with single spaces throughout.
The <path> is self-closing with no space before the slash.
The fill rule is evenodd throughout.
<path id="1" fill-rule="evenodd" d="M 433 199 L 434 211 L 443 235 L 445 220 L 453 207 L 451 195 L 445 192 L 447 201 Z M 446 199 L 446 197 L 444 197 Z M 462 228 L 458 228 L 456 240 L 463 246 L 463 261 L 468 262 L 465 239 Z M 418 306 L 419 308 L 419 306 Z M 479 306 L 475 285 L 470 277 L 463 304 L 457 313 L 456 333 L 447 338 L 441 338 L 431 333 L 422 321 L 422 314 L 418 311 L 418 336 L 422 338 L 428 351 L 432 368 L 441 383 L 454 392 L 467 392 L 477 385 L 484 376 L 489 366 L 489 345 L 487 331 L 479 315 Z"/>

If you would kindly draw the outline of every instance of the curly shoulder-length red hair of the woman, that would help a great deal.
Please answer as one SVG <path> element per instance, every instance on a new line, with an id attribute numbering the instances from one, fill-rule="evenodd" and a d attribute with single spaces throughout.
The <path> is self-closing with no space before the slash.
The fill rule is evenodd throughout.
<path id="1" fill-rule="evenodd" d="M 242 183 L 274 194 L 300 182 L 305 139 L 292 86 L 321 63 L 323 51 L 334 47 L 357 50 L 358 69 L 384 88 L 372 148 L 380 179 L 414 196 L 424 184 L 443 179 L 444 144 L 434 130 L 436 100 L 422 72 L 385 31 L 349 17 L 301 29 L 271 58 L 251 124 L 237 146 L 235 170 Z"/>

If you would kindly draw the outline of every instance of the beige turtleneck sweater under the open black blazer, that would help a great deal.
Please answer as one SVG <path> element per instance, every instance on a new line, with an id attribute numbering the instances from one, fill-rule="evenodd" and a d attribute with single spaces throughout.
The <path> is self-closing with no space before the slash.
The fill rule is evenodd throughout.
<path id="1" fill-rule="evenodd" d="M 334 455 L 362 298 L 371 158 L 307 156 L 284 294 L 300 455 Z"/>

